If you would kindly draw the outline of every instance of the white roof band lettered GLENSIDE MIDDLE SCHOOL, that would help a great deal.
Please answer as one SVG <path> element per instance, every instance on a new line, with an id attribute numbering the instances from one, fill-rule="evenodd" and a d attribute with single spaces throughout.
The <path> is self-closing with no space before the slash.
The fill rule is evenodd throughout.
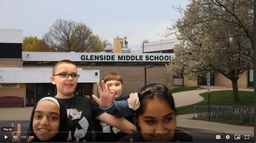
<path id="1" fill-rule="evenodd" d="M 163 53 L 75 53 L 75 52 L 22 52 L 23 61 L 74 62 L 170 62 L 174 54 Z"/>

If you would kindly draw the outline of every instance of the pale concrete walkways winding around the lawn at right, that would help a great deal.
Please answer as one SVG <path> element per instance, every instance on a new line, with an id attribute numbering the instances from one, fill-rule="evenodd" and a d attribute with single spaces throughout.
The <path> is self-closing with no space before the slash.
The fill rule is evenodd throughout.
<path id="1" fill-rule="evenodd" d="M 210 91 L 218 91 L 218 90 L 232 90 L 232 88 L 225 87 L 210 87 Z M 253 91 L 253 89 L 239 89 L 245 91 Z M 173 98 L 175 101 L 175 107 L 181 107 L 186 105 L 195 104 L 197 102 L 201 102 L 203 97 L 199 96 L 199 94 L 207 92 L 207 89 L 200 90 L 191 90 L 191 91 L 183 91 L 177 92 L 173 94 Z M 254 127 L 245 127 L 241 125 L 230 125 L 216 122 L 207 122 L 200 120 L 191 120 L 193 118 L 193 114 L 187 115 L 178 115 L 177 127 L 182 128 L 190 128 L 194 129 L 195 132 L 207 132 L 212 134 L 218 133 L 227 133 L 227 134 L 240 134 L 244 136 L 245 134 L 249 134 L 250 137 L 254 137 Z M 226 135 L 227 135 L 226 134 Z"/>

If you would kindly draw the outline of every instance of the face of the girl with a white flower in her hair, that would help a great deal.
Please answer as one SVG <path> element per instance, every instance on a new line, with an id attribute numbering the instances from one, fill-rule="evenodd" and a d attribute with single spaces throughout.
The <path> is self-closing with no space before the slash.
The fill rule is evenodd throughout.
<path id="1" fill-rule="evenodd" d="M 174 136 L 175 114 L 163 99 L 148 99 L 145 112 L 138 116 L 137 121 L 147 141 L 170 141 Z"/>

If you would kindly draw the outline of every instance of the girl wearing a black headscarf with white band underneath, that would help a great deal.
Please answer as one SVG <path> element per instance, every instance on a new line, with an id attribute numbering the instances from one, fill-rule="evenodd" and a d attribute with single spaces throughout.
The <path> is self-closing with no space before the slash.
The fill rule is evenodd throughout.
<path id="1" fill-rule="evenodd" d="M 54 97 L 44 97 L 34 106 L 31 113 L 28 129 L 29 141 L 66 141 L 67 124 L 65 106 Z M 19 128 L 21 125 L 18 125 L 17 131 L 21 130 Z M 21 138 L 18 133 L 17 138 L 18 140 Z"/>

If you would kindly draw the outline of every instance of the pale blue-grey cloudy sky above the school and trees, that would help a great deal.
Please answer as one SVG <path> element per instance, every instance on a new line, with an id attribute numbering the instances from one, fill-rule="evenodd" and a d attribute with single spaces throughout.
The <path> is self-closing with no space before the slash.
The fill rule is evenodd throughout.
<path id="1" fill-rule="evenodd" d="M 127 37 L 138 49 L 143 39 L 156 41 L 181 18 L 172 5 L 186 8 L 187 0 L 0 0 L 0 29 L 22 29 L 23 36 L 42 38 L 57 19 L 82 22 L 101 39 Z M 173 38 L 169 36 L 167 38 Z"/>

